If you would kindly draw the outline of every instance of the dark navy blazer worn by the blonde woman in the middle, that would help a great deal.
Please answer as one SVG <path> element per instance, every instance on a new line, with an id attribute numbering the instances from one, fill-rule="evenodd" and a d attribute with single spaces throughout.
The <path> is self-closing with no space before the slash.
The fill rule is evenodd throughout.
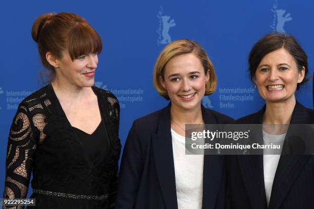
<path id="1" fill-rule="evenodd" d="M 170 106 L 136 119 L 125 143 L 115 208 L 176 209 Z M 205 123 L 233 119 L 202 106 Z M 225 208 L 225 156 L 204 156 L 203 208 Z"/>

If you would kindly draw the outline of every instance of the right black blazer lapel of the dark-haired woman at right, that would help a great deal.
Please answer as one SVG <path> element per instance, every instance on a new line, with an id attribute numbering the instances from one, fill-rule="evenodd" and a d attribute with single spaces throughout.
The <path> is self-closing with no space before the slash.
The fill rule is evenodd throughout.
<path id="1" fill-rule="evenodd" d="M 306 115 L 305 108 L 296 101 L 293 109 L 290 124 L 307 124 L 309 116 Z M 289 130 L 287 132 L 288 136 Z M 285 144 L 283 150 L 285 149 Z M 273 179 L 269 208 L 279 208 L 290 187 L 295 183 L 296 178 L 302 171 L 310 155 L 281 155 L 276 174 Z"/>

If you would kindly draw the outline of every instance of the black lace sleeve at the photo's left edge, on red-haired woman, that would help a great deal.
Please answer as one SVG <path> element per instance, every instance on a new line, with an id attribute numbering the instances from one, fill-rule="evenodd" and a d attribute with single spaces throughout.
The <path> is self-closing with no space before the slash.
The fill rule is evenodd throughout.
<path id="1" fill-rule="evenodd" d="M 19 106 L 9 133 L 4 198 L 25 198 L 36 148 L 27 108 Z M 7 208 L 4 206 L 4 208 Z M 8 208 L 23 208 L 8 207 Z"/>

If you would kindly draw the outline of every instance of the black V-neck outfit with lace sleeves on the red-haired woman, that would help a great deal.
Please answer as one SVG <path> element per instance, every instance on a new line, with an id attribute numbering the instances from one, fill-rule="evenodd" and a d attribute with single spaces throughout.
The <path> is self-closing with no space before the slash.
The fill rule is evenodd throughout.
<path id="1" fill-rule="evenodd" d="M 92 90 L 102 122 L 91 135 L 71 127 L 51 85 L 21 102 L 9 135 L 6 198 L 25 198 L 32 172 L 30 208 L 114 207 L 120 107 L 110 92 Z"/>

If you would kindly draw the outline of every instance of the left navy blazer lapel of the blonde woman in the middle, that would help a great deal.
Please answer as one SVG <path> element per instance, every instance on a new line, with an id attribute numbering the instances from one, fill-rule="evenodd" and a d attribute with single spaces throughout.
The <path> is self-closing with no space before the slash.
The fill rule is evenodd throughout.
<path id="1" fill-rule="evenodd" d="M 153 155 L 156 165 L 156 174 L 160 183 L 166 208 L 178 208 L 176 200 L 175 174 L 172 152 L 170 106 L 161 112 L 158 132 L 152 135 Z"/>

